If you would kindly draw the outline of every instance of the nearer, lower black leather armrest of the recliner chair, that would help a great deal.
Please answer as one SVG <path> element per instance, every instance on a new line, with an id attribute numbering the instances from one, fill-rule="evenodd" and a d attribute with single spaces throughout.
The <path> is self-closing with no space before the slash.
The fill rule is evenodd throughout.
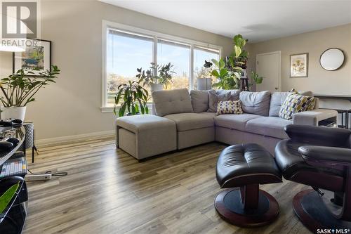
<path id="1" fill-rule="evenodd" d="M 351 149 L 326 146 L 304 145 L 298 148 L 303 159 L 341 166 L 351 166 Z"/>

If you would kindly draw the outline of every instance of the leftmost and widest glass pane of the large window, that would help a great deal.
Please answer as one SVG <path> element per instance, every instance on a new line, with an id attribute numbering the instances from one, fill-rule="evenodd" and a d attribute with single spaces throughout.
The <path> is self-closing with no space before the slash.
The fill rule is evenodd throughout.
<path id="1" fill-rule="evenodd" d="M 114 105 L 119 84 L 136 80 L 137 68 L 149 69 L 153 39 L 116 30 L 107 33 L 107 106 Z"/>

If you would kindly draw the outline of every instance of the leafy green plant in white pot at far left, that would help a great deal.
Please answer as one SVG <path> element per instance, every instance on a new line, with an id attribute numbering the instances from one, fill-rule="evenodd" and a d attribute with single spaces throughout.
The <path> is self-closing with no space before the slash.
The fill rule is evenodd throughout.
<path id="1" fill-rule="evenodd" d="M 53 65 L 52 70 L 39 72 L 39 75 L 32 76 L 34 72 L 18 70 L 14 74 L 1 79 L 0 89 L 3 96 L 0 101 L 1 119 L 25 119 L 25 110 L 28 103 L 35 100 L 34 95 L 39 89 L 50 83 L 55 83 L 55 78 L 60 74 L 57 66 Z"/>

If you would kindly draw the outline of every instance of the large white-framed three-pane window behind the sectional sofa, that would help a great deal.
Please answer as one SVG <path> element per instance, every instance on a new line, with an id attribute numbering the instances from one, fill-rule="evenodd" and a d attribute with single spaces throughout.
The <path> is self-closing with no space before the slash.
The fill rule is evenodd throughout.
<path id="1" fill-rule="evenodd" d="M 194 89 L 197 70 L 204 65 L 204 60 L 220 58 L 220 46 L 107 21 L 103 21 L 102 28 L 102 111 L 113 107 L 119 84 L 136 79 L 137 68 L 147 70 L 150 63 L 171 63 L 176 73 L 167 89 Z"/>

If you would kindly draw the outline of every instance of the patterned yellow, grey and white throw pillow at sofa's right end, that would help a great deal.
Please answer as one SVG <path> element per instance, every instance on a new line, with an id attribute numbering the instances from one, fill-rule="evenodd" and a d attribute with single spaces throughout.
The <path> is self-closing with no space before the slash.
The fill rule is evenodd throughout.
<path id="1" fill-rule="evenodd" d="M 300 95 L 295 89 L 286 96 L 282 107 L 279 110 L 279 117 L 293 119 L 293 114 L 307 110 L 313 110 L 316 98 Z"/>

